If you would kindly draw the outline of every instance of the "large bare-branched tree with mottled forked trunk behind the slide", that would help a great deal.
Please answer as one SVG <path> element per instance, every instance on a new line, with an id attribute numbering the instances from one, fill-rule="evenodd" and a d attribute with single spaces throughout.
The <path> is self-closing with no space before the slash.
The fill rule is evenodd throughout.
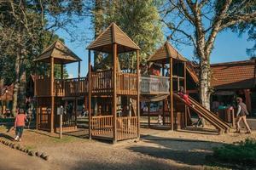
<path id="1" fill-rule="evenodd" d="M 201 104 L 210 108 L 210 55 L 219 32 L 239 23 L 255 20 L 256 11 L 244 10 L 254 0 L 168 0 L 161 8 L 162 21 L 170 29 L 169 39 L 193 45 L 199 59 Z"/>

